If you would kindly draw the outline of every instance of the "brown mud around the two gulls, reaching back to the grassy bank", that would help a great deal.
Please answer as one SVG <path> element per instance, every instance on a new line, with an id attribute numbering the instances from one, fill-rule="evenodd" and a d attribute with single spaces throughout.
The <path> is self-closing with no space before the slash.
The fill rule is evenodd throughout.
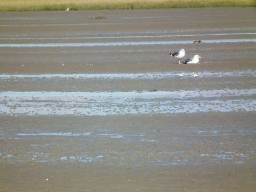
<path id="1" fill-rule="evenodd" d="M 255 34 L 241 34 L 255 33 L 255 8 L 1 14 L 1 43 L 191 41 L 188 44 L 147 46 L 0 47 L 1 73 L 5 74 L 255 69 L 255 42 L 193 44 L 197 39 L 202 42 L 204 39 L 255 39 Z M 94 19 L 98 14 L 106 19 Z M 241 35 L 228 35 L 234 33 Z M 198 34 L 226 35 L 177 36 Z M 181 48 L 185 48 L 186 57 L 201 54 L 201 65 L 177 65 L 168 54 Z M 86 66 L 86 63 L 93 66 Z"/>

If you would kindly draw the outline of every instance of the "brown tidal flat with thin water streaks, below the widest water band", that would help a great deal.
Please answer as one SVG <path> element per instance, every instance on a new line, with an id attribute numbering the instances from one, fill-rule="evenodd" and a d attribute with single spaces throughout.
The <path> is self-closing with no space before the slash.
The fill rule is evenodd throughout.
<path id="1" fill-rule="evenodd" d="M 253 191 L 254 117 L 1 116 L 0 182 L 9 191 Z"/>

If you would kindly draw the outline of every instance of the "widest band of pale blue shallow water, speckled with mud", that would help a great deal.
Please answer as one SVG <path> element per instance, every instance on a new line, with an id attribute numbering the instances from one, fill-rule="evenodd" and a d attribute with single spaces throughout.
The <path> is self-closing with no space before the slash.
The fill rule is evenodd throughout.
<path id="1" fill-rule="evenodd" d="M 256 89 L 144 92 L 2 92 L 4 115 L 127 115 L 254 111 Z M 239 97 L 243 97 L 240 99 Z"/>

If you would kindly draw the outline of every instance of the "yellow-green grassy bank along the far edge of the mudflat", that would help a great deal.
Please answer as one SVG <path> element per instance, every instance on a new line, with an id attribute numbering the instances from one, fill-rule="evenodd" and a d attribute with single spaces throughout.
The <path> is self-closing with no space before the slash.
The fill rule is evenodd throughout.
<path id="1" fill-rule="evenodd" d="M 249 7 L 255 0 L 1 0 L 0 11 Z"/>

